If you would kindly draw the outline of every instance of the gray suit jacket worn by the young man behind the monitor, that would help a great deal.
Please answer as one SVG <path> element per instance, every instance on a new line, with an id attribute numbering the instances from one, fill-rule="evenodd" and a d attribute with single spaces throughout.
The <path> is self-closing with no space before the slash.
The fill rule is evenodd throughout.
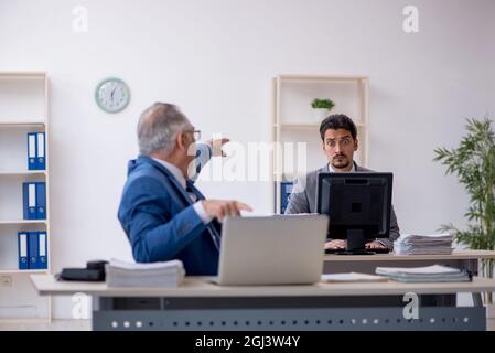
<path id="1" fill-rule="evenodd" d="M 373 172 L 364 167 L 357 165 L 354 162 L 356 172 Z M 294 213 L 316 213 L 316 184 L 318 184 L 318 173 L 327 172 L 329 164 L 325 167 L 309 172 L 304 179 L 298 178 L 294 181 L 294 186 L 292 193 L 289 196 L 289 203 L 286 208 L 286 214 Z M 397 224 L 396 213 L 394 206 L 391 207 L 390 214 L 390 235 L 388 239 L 378 239 L 384 243 L 389 249 L 394 248 L 394 242 L 400 236 L 399 225 Z"/>

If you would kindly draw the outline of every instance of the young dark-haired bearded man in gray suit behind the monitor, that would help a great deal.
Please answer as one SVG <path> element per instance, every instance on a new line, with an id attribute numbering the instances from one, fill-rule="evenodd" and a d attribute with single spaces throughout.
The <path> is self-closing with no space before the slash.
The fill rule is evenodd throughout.
<path id="1" fill-rule="evenodd" d="M 354 152 L 359 146 L 357 140 L 357 129 L 354 121 L 343 115 L 331 115 L 320 125 L 320 136 L 322 148 L 326 154 L 329 163 L 305 175 L 305 180 L 298 179 L 294 183 L 292 194 L 289 196 L 289 204 L 286 214 L 315 213 L 316 212 L 316 182 L 319 172 L 370 172 L 372 170 L 357 165 L 354 161 Z M 366 244 L 367 248 L 389 248 L 392 249 L 394 240 L 399 237 L 399 226 L 397 217 L 391 208 L 390 236 L 388 239 L 377 239 Z M 325 248 L 345 248 L 345 240 L 331 239 Z"/>

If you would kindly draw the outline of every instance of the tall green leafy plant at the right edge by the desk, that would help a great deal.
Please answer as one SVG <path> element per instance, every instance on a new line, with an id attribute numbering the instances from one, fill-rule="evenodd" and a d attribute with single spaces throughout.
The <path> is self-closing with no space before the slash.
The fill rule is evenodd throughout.
<path id="1" fill-rule="evenodd" d="M 470 206 L 465 213 L 467 228 L 462 231 L 448 224 L 442 225 L 441 229 L 452 232 L 460 244 L 472 249 L 495 248 L 495 135 L 492 122 L 488 118 L 467 119 L 467 135 L 456 149 L 434 150 L 434 160 L 446 165 L 445 173 L 455 174 L 470 195 Z M 481 275 L 493 278 L 494 260 L 483 259 L 481 264 Z M 483 299 L 488 315 L 493 315 L 493 293 L 484 293 Z"/>

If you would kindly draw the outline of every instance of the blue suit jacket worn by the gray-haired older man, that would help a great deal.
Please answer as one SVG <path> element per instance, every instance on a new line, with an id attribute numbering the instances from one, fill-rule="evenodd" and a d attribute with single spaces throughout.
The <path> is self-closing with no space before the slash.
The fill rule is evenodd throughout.
<path id="1" fill-rule="evenodd" d="M 198 200 L 204 196 L 193 188 Z M 128 167 L 118 217 L 138 263 L 180 259 L 187 275 L 216 275 L 218 248 L 176 179 L 153 159 L 139 156 Z"/>

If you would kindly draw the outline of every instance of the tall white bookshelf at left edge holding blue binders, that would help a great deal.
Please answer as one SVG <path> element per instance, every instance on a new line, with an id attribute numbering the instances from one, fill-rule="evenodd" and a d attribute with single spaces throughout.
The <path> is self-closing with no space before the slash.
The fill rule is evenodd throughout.
<path id="1" fill-rule="evenodd" d="M 28 169 L 28 132 L 45 132 L 46 170 Z M 29 285 L 30 274 L 51 272 L 49 79 L 44 72 L 0 72 L 0 287 L 2 307 L 33 307 L 36 317 L 8 320 L 52 320 L 52 300 L 39 297 Z M 22 183 L 46 183 L 46 220 L 23 220 Z M 46 231 L 47 269 L 20 270 L 18 232 Z M 20 288 L 18 288 L 18 286 Z M 45 314 L 43 313 L 46 311 Z M 44 308 L 46 308 L 44 310 Z"/>

